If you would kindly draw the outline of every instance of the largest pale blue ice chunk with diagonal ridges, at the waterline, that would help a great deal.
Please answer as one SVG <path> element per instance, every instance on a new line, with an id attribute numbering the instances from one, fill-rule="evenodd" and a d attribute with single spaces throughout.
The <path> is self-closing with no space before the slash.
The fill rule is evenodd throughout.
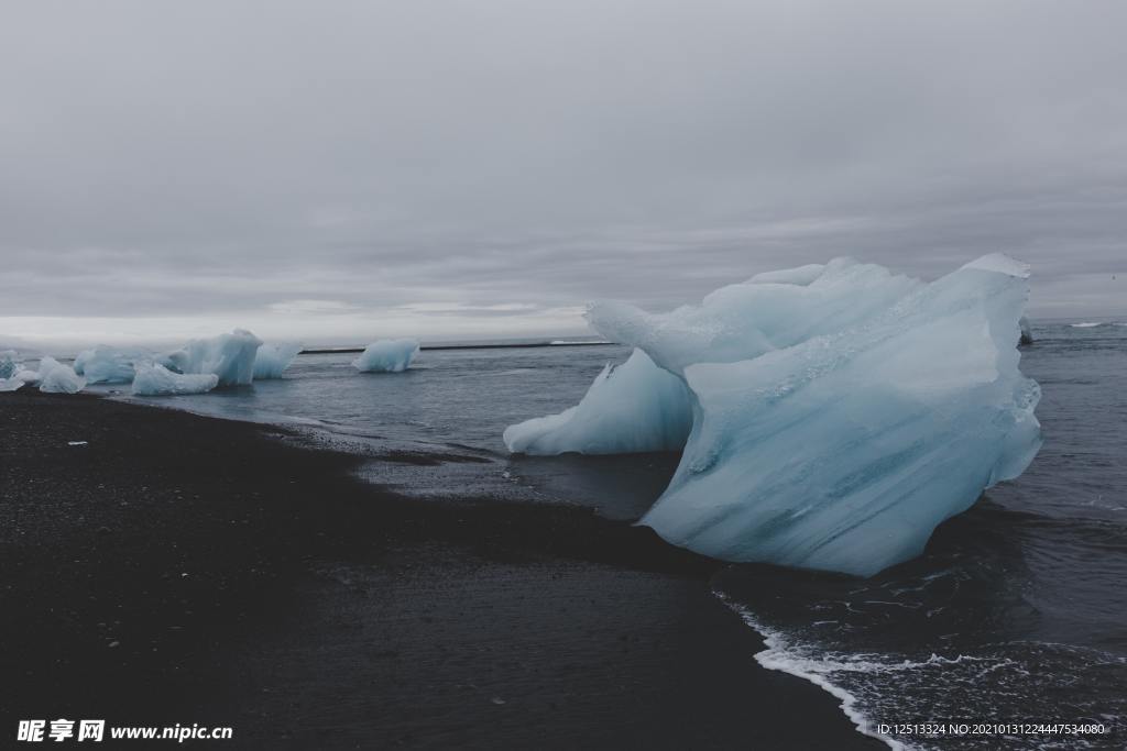
<path id="1" fill-rule="evenodd" d="M 836 259 L 666 314 L 592 306 L 601 334 L 642 349 L 689 393 L 681 464 L 639 524 L 726 561 L 863 576 L 919 555 L 1040 448 L 1040 390 L 1017 350 L 1028 277 L 1001 254 L 931 284 Z M 597 429 L 613 442 L 605 433 L 636 427 Z M 568 450 L 592 440 L 577 433 Z M 542 446 L 558 448 L 543 435 L 518 450 Z"/>

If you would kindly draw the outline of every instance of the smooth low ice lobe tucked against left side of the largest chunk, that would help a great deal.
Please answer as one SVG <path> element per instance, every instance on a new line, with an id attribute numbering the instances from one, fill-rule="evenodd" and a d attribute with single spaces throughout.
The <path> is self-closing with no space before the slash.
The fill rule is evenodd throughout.
<path id="1" fill-rule="evenodd" d="M 505 446 L 540 456 L 675 452 L 692 427 L 691 404 L 681 378 L 636 349 L 603 368 L 578 405 L 506 428 Z"/>

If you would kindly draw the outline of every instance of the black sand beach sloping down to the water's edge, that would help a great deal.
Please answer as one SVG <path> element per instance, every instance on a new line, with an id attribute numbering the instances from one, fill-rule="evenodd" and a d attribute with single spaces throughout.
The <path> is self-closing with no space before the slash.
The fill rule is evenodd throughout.
<path id="1" fill-rule="evenodd" d="M 230 725 L 222 748 L 882 748 L 758 667 L 716 564 L 648 529 L 405 500 L 277 428 L 90 396 L 0 394 L 0 426 L 9 740 L 83 717 Z"/>

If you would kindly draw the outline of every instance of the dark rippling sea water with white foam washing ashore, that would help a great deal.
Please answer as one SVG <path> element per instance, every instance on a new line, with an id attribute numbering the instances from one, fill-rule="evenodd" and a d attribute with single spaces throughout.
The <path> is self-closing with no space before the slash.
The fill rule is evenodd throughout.
<path id="1" fill-rule="evenodd" d="M 760 662 L 823 686 L 894 748 L 1127 748 L 1127 327 L 1035 322 L 1033 334 L 1022 370 L 1042 388 L 1045 446 L 1021 477 L 940 527 L 925 555 L 869 580 L 738 565 L 712 582 L 766 636 Z M 312 440 L 372 456 L 371 481 L 423 498 L 564 501 L 633 519 L 676 456 L 509 457 L 500 440 L 511 423 L 578 402 L 628 355 L 435 350 L 398 375 L 309 355 L 282 381 L 149 401 L 304 426 Z M 879 732 L 922 723 L 969 727 Z M 1027 723 L 1108 733 L 970 734 Z"/>

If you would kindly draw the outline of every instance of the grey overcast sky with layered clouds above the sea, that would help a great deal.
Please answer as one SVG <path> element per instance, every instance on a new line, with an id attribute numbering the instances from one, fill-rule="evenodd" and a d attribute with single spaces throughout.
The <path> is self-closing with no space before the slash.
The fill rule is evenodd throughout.
<path id="1" fill-rule="evenodd" d="M 994 251 L 1033 315 L 1122 316 L 1124 29 L 1121 0 L 6 3 L 0 339 L 566 334 L 592 298 Z"/>

